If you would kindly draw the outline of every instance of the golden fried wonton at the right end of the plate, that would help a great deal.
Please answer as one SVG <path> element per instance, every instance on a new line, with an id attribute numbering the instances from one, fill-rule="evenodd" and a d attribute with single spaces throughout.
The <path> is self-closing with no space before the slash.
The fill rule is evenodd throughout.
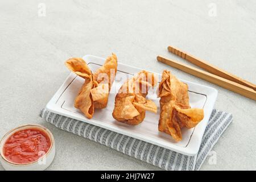
<path id="1" fill-rule="evenodd" d="M 159 97 L 158 130 L 170 134 L 176 141 L 182 139 L 182 127 L 195 127 L 204 118 L 203 109 L 191 109 L 189 105 L 188 85 L 166 70 L 159 84 Z"/>

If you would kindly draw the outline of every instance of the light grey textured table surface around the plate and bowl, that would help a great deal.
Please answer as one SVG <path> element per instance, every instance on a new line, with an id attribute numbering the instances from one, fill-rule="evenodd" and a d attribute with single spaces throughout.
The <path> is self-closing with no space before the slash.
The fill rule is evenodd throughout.
<path id="1" fill-rule="evenodd" d="M 255 83 L 255 10 L 253 0 L 2 0 L 0 137 L 25 123 L 46 126 L 56 141 L 49 170 L 160 169 L 38 117 L 69 74 L 65 60 L 114 52 L 121 63 L 159 73 L 170 69 L 179 78 L 216 88 L 214 107 L 234 119 L 213 147 L 216 164 L 207 159 L 201 169 L 255 170 L 256 102 L 156 61 L 164 55 L 187 63 L 168 53 L 172 45 Z"/>

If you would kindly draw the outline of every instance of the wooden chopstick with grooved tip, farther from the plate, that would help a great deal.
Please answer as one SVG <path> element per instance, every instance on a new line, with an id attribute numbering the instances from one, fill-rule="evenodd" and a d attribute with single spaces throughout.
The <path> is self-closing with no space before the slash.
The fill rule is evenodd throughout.
<path id="1" fill-rule="evenodd" d="M 220 76 L 222 78 L 226 78 L 227 80 L 237 82 L 238 84 L 245 85 L 251 89 L 256 90 L 256 85 L 254 85 L 253 83 L 243 80 L 242 78 L 237 77 L 236 75 L 232 75 L 231 73 L 226 72 L 223 69 L 217 68 L 214 65 L 209 64 L 206 61 L 201 60 L 195 56 L 189 55 L 187 52 L 181 51 L 180 49 L 177 49 L 172 46 L 168 46 L 168 51 L 171 53 L 174 53 L 179 57 L 182 57 L 183 59 L 197 65 L 200 68 L 205 69 L 210 73 L 213 73 L 214 75 Z"/>

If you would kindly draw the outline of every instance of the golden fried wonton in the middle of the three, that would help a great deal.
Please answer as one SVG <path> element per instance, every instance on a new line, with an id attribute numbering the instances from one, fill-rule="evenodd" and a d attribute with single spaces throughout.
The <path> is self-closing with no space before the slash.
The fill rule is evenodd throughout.
<path id="1" fill-rule="evenodd" d="M 155 103 L 146 99 L 148 89 L 156 83 L 154 74 L 146 71 L 127 80 L 115 96 L 113 117 L 119 122 L 138 125 L 145 118 L 146 110 L 156 113 Z"/>

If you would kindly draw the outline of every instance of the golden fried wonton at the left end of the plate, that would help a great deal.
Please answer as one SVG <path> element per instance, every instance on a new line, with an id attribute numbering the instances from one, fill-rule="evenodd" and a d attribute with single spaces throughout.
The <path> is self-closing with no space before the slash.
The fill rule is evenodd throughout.
<path id="1" fill-rule="evenodd" d="M 117 56 L 112 53 L 112 56 L 109 56 L 94 74 L 81 58 L 71 58 L 65 62 L 65 65 L 85 79 L 75 99 L 75 107 L 90 119 L 93 117 L 94 108 L 103 109 L 108 104 L 109 91 L 117 72 Z"/>

